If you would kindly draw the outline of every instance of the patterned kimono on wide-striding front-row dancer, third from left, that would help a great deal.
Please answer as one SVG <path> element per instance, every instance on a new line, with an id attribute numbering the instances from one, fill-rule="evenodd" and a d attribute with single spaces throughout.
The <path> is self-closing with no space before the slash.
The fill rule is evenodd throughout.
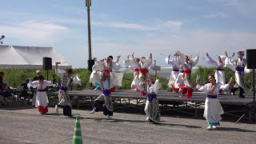
<path id="1" fill-rule="evenodd" d="M 96 112 L 102 109 L 103 103 L 105 106 L 103 106 L 103 114 L 104 115 L 113 115 L 113 100 L 111 97 L 111 92 L 110 92 L 110 78 L 106 78 L 105 81 L 102 80 L 101 78 L 102 73 L 95 74 L 94 78 L 99 79 L 99 83 L 101 83 L 102 86 L 102 94 L 98 96 L 94 100 L 94 105 L 93 107 L 96 107 Z M 109 76 L 110 77 L 110 76 Z"/>

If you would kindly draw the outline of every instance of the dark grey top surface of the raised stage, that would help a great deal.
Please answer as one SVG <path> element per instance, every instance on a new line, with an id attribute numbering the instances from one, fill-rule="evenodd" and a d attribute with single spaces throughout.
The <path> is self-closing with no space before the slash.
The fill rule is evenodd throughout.
<path id="1" fill-rule="evenodd" d="M 58 93 L 54 93 L 58 94 Z M 101 90 L 70 90 L 68 91 L 70 96 L 79 97 L 98 97 L 102 94 Z M 113 98 L 131 98 L 131 99 L 146 99 L 146 96 L 136 92 L 134 90 L 116 90 L 116 92 L 111 93 Z M 238 93 L 236 95 L 225 94 L 219 95 L 218 99 L 221 104 L 225 105 L 238 105 L 238 106 L 248 106 L 254 102 L 253 93 L 245 94 L 246 98 L 239 98 Z M 205 102 L 206 94 L 201 92 L 194 92 L 191 98 L 182 97 L 182 94 L 159 91 L 158 93 L 159 101 L 166 102 Z"/>

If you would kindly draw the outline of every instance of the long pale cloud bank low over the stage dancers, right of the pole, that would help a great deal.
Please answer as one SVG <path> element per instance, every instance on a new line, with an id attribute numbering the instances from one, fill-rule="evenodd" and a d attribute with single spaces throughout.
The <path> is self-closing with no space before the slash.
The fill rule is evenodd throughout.
<path id="1" fill-rule="evenodd" d="M 137 41 L 139 39 L 139 41 Z M 135 57 L 153 54 L 159 66 L 167 66 L 162 54 L 174 54 L 181 50 L 185 54 L 201 54 L 199 65 L 206 65 L 202 57 L 206 58 L 206 52 L 211 55 L 229 54 L 238 50 L 246 50 L 256 47 L 256 34 L 245 32 L 214 32 L 212 30 L 182 31 L 178 35 L 146 34 L 144 38 L 134 36 L 134 42 L 123 44 L 122 42 L 111 42 L 105 38 L 104 42 L 94 43 L 93 57 L 105 58 L 112 54 L 122 55 L 121 61 L 126 55 L 135 52 Z M 131 41 L 131 39 L 130 39 Z M 245 47 L 247 46 L 247 47 Z"/>

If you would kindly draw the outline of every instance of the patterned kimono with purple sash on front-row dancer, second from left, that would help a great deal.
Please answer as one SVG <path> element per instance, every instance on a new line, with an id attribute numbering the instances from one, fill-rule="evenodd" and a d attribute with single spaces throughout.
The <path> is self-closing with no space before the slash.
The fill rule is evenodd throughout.
<path id="1" fill-rule="evenodd" d="M 68 87 L 74 83 L 79 84 L 81 86 L 81 79 L 79 78 L 79 75 L 77 74 L 74 78 L 68 77 L 66 73 L 66 70 L 60 70 L 56 69 L 55 74 L 57 74 L 60 78 L 62 78 L 62 84 L 60 86 L 60 89 L 58 91 L 58 106 L 70 106 L 72 107 L 70 102 L 70 96 L 67 94 Z M 64 110 L 63 110 L 64 113 Z"/>

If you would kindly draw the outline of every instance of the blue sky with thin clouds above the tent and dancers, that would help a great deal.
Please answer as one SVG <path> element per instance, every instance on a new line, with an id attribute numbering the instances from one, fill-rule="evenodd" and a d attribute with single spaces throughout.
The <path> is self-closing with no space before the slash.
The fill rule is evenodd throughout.
<path id="1" fill-rule="evenodd" d="M 136 57 L 160 54 L 224 54 L 256 48 L 255 0 L 92 0 L 92 54 Z M 53 46 L 74 67 L 86 67 L 84 0 L 2 0 L 0 34 L 5 45 Z"/>

